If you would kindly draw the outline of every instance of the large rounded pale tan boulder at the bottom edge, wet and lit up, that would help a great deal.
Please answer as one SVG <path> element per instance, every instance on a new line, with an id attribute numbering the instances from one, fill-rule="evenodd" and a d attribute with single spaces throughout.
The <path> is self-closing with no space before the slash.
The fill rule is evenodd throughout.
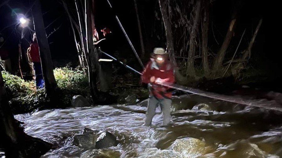
<path id="1" fill-rule="evenodd" d="M 182 138 L 176 139 L 170 149 L 182 158 L 196 158 L 205 154 L 206 144 L 196 138 Z"/>

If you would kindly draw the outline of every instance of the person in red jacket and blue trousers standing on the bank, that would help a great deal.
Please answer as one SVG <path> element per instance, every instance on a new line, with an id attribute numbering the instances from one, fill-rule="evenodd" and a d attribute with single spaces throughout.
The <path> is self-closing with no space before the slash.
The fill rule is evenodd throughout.
<path id="1" fill-rule="evenodd" d="M 31 43 L 27 54 L 33 62 L 33 67 L 35 70 L 36 88 L 40 89 L 44 87 L 44 80 L 43 80 L 42 67 L 41 67 L 41 61 L 40 61 L 40 56 L 39 56 L 39 47 L 38 47 L 35 33 L 33 35 L 32 40 L 33 40 L 33 43 Z"/>

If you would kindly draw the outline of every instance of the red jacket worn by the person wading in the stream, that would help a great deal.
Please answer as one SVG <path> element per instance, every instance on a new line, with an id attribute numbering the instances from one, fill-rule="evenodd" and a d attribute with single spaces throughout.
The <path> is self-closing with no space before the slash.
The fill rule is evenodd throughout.
<path id="1" fill-rule="evenodd" d="M 163 82 L 174 83 L 175 81 L 174 68 L 170 61 L 166 61 L 161 67 L 158 67 L 154 60 L 150 61 L 146 65 L 142 73 L 142 82 L 149 83 L 152 76 L 156 77 L 156 79 L 159 78 L 158 80 L 161 80 Z M 164 87 L 156 83 L 152 83 L 150 94 L 159 99 L 162 99 L 164 97 L 171 98 L 171 92 L 167 92 L 168 89 L 169 87 Z"/>

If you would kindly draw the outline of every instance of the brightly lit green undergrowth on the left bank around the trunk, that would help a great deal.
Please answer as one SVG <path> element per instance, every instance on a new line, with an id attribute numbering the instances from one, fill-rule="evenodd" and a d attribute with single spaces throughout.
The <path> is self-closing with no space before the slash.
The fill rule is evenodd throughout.
<path id="1" fill-rule="evenodd" d="M 15 113 L 30 112 L 41 107 L 48 107 L 44 89 L 37 90 L 35 81 L 24 81 L 21 77 L 2 72 L 9 103 Z M 89 84 L 86 74 L 69 68 L 56 68 L 55 79 L 58 85 L 57 95 L 61 107 L 70 105 L 72 96 L 89 95 Z"/>

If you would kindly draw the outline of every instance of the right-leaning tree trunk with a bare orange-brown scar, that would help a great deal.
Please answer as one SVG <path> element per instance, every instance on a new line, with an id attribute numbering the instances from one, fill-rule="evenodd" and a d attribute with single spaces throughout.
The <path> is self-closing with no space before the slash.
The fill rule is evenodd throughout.
<path id="1" fill-rule="evenodd" d="M 238 2 L 237 4 L 239 4 L 240 2 Z M 231 16 L 231 22 L 229 23 L 229 27 L 226 33 L 226 36 L 224 38 L 224 41 L 219 49 L 219 51 L 217 52 L 217 56 L 214 59 L 214 63 L 213 63 L 213 68 L 212 71 L 213 73 L 215 73 L 214 75 L 216 75 L 216 73 L 220 70 L 220 68 L 222 67 L 222 62 L 223 59 L 225 57 L 226 54 L 226 50 L 229 46 L 229 43 L 232 39 L 233 33 L 234 33 L 234 29 L 235 29 L 235 24 L 236 24 L 236 17 L 237 17 L 237 11 L 238 11 L 238 6 L 239 5 L 235 5 L 235 7 L 233 8 L 233 12 L 232 12 L 232 16 Z"/>

